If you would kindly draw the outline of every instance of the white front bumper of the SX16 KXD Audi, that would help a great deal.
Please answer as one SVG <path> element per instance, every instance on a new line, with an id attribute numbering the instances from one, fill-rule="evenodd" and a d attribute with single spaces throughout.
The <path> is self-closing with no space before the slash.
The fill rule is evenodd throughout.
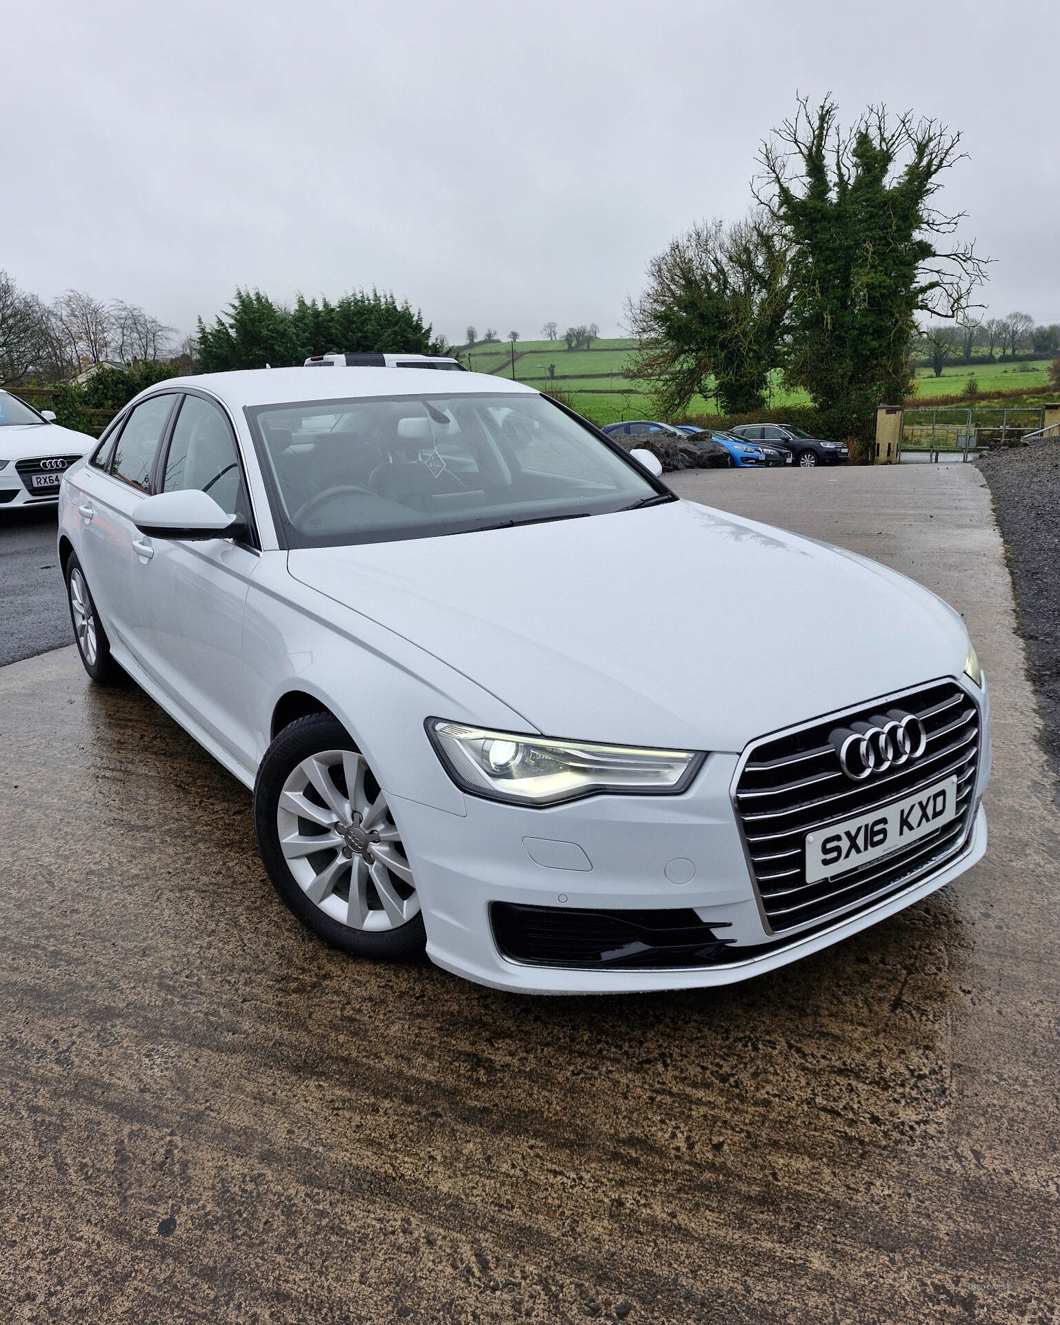
<path id="1" fill-rule="evenodd" d="M 986 698 L 983 709 L 986 723 Z M 977 796 L 989 775 L 989 749 L 987 737 Z M 986 851 L 986 818 L 978 808 L 961 851 L 933 873 L 811 931 L 770 935 L 730 800 L 737 763 L 734 754 L 711 754 L 680 796 L 590 796 L 547 810 L 466 796 L 466 814 L 454 815 L 388 792 L 416 874 L 427 954 L 446 970 L 513 992 L 605 994 L 729 984 L 892 916 L 942 888 Z M 498 947 L 490 916 L 494 902 L 572 912 L 672 909 L 688 916 L 693 910 L 703 922 L 717 926 L 717 937 L 730 947 L 709 966 L 570 969 L 523 963 L 502 955 Z"/>

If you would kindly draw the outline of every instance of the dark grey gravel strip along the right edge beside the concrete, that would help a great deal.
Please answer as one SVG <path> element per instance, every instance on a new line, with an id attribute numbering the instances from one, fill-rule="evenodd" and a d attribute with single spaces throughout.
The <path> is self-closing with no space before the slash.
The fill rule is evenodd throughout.
<path id="1" fill-rule="evenodd" d="M 1008 554 L 1043 741 L 1060 772 L 1060 441 L 991 452 L 979 468 Z"/>

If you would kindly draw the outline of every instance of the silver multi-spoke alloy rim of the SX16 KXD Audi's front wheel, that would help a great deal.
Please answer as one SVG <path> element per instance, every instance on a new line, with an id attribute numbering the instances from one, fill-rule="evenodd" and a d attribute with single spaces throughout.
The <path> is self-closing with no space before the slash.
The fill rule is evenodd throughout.
<path id="1" fill-rule="evenodd" d="M 333 921 L 380 933 L 420 913 L 390 807 L 356 750 L 322 750 L 295 765 L 277 831 L 295 882 Z"/>

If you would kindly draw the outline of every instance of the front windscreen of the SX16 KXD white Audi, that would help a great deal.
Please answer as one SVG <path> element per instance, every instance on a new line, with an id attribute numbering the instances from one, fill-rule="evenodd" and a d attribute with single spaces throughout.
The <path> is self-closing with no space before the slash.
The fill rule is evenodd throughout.
<path id="1" fill-rule="evenodd" d="M 671 500 L 539 395 L 327 400 L 246 413 L 288 547 L 429 538 Z"/>

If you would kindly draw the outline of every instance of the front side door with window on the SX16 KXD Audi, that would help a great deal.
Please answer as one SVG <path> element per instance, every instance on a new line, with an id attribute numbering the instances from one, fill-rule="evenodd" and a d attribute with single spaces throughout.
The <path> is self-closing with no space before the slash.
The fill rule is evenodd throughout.
<path id="1" fill-rule="evenodd" d="M 253 513 L 236 436 L 213 400 L 187 394 L 155 474 L 156 492 L 197 488 L 251 533 L 246 542 L 140 537 L 135 596 L 151 676 L 240 762 L 254 762 L 241 636 L 258 564 Z"/>

